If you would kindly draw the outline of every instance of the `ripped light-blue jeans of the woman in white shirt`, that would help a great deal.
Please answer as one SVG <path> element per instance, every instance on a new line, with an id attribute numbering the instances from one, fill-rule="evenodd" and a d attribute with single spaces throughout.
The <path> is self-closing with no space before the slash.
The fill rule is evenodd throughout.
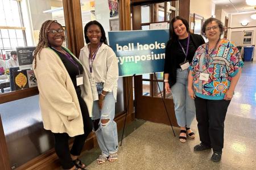
<path id="1" fill-rule="evenodd" d="M 97 83 L 97 91 L 100 95 L 103 90 L 103 84 Z M 109 154 L 115 154 L 118 150 L 118 137 L 117 137 L 117 123 L 114 121 L 115 117 L 115 99 L 112 92 L 108 92 L 105 96 L 102 109 L 98 107 L 98 100 L 93 102 L 93 115 L 92 120 L 109 120 L 106 124 L 102 125 L 101 121 L 98 124 L 98 129 L 93 127 L 96 133 L 98 145 L 101 148 L 101 154 L 108 157 Z"/>

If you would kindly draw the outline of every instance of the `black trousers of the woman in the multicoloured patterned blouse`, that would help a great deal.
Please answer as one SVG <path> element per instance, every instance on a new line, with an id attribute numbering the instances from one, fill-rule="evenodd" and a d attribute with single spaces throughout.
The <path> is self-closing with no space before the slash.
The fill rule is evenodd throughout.
<path id="1" fill-rule="evenodd" d="M 196 97 L 196 120 L 200 141 L 222 152 L 224 144 L 224 121 L 230 100 L 207 100 Z"/>

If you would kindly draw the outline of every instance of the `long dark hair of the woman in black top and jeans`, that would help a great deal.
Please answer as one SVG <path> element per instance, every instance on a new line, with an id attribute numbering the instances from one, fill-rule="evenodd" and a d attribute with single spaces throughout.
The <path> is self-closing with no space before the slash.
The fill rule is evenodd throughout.
<path id="1" fill-rule="evenodd" d="M 179 37 L 176 35 L 176 33 L 174 32 L 174 22 L 176 22 L 177 20 L 181 20 L 181 22 L 185 25 L 187 32 L 189 32 L 189 24 L 188 21 L 185 20 L 184 18 L 182 18 L 181 16 L 175 16 L 174 18 L 172 18 L 171 23 L 170 23 L 170 27 L 169 27 L 169 41 L 170 42 L 175 42 L 179 40 Z"/>

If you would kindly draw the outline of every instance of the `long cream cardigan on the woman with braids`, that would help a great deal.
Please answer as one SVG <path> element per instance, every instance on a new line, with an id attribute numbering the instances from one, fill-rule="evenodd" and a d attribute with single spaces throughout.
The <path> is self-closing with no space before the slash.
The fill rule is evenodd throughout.
<path id="1" fill-rule="evenodd" d="M 35 61 L 33 61 L 34 67 Z M 67 133 L 70 137 L 84 134 L 75 87 L 60 57 L 51 48 L 42 49 L 40 59 L 39 55 L 36 56 L 34 72 L 38 81 L 39 105 L 44 129 L 53 133 Z M 93 96 L 85 69 L 83 76 L 84 84 L 80 86 L 81 96 L 91 117 Z"/>

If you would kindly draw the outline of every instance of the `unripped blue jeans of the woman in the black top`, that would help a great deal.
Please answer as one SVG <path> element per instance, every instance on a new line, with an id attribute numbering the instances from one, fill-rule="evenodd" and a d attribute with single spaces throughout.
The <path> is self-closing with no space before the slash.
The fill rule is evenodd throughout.
<path id="1" fill-rule="evenodd" d="M 181 127 L 190 128 L 195 118 L 195 101 L 188 95 L 188 72 L 189 69 L 177 69 L 177 78 L 174 86 L 171 87 L 174 97 L 174 109 L 177 124 Z"/>

